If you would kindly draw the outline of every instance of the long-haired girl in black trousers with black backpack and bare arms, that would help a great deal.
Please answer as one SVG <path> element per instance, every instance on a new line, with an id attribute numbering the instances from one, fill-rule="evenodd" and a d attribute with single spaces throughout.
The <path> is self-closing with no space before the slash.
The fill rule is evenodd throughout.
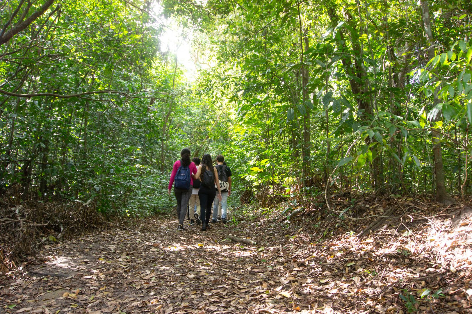
<path id="1" fill-rule="evenodd" d="M 216 196 L 215 182 L 218 182 L 218 171 L 213 166 L 210 154 L 204 154 L 202 163 L 198 166 L 196 177 L 200 178 L 200 190 L 198 197 L 200 198 L 200 217 L 202 219 L 202 231 L 208 228 L 211 216 L 211 204 Z M 221 190 L 218 187 L 218 199 L 221 202 Z"/>

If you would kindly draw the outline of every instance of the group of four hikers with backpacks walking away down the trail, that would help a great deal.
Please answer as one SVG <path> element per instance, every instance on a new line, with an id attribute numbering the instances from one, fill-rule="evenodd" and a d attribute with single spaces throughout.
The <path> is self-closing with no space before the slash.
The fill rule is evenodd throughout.
<path id="1" fill-rule="evenodd" d="M 174 185 L 174 194 L 177 199 L 177 230 L 185 230 L 187 206 L 189 206 L 190 225 L 202 223 L 202 231 L 210 228 L 212 209 L 211 222 L 219 221 L 219 205 L 221 205 L 221 222 L 227 222 L 228 196 L 231 195 L 231 170 L 226 165 L 223 155 L 216 156 L 216 166 L 213 166 L 210 154 L 204 154 L 202 160 L 194 157 L 191 161 L 190 150 L 184 148 L 180 152 L 180 160 L 174 162 L 172 167 L 169 195 L 172 185 Z"/>

